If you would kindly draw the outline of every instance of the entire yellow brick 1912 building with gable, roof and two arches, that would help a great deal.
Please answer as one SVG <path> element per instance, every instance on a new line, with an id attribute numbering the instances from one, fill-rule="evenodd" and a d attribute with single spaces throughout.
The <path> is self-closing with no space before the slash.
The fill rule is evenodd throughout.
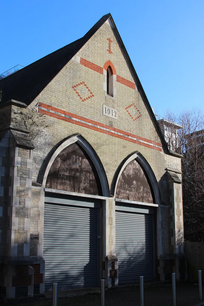
<path id="1" fill-rule="evenodd" d="M 0 89 L 6 298 L 185 278 L 181 156 L 111 15 Z"/>

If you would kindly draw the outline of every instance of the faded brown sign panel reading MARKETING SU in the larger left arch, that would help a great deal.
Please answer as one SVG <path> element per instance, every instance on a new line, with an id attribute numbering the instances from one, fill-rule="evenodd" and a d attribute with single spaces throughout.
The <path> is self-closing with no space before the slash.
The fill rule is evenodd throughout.
<path id="1" fill-rule="evenodd" d="M 98 175 L 75 143 L 63 149 L 50 167 L 46 188 L 98 195 Z"/>

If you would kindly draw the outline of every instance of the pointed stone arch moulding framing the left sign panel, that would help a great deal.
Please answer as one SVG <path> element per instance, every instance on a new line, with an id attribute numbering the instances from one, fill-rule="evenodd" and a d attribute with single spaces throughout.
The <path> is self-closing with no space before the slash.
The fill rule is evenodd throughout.
<path id="1" fill-rule="evenodd" d="M 70 147 L 73 144 L 76 144 L 77 147 L 72 146 L 72 150 L 77 151 L 77 155 L 79 156 L 79 158 L 86 159 L 86 158 L 83 158 L 83 156 L 85 156 L 89 160 L 86 162 L 87 166 L 88 164 L 90 164 L 89 170 L 85 169 L 82 171 L 87 172 L 87 173 L 88 172 L 91 173 L 92 171 L 93 173 L 91 173 L 91 175 L 92 176 L 94 175 L 95 178 L 98 178 L 97 184 L 100 184 L 100 186 L 99 185 L 97 186 L 99 187 L 99 189 L 101 189 L 101 192 L 99 191 L 101 193 L 100 195 L 109 196 L 109 184 L 108 184 L 107 176 L 106 176 L 104 167 L 102 165 L 102 162 L 99 159 L 94 148 L 91 146 L 91 144 L 89 144 L 87 140 L 78 133 L 66 137 L 65 139 L 61 140 L 53 147 L 53 149 L 47 155 L 46 160 L 44 161 L 44 164 L 42 166 L 41 172 L 39 173 L 39 178 L 37 182 L 42 184 L 43 187 L 47 186 L 47 179 L 50 176 L 50 172 L 53 172 L 52 168 L 54 166 L 54 161 L 56 163 L 56 158 L 58 158 L 58 156 L 61 156 L 63 154 L 64 155 L 69 154 L 69 152 L 65 152 L 65 150 L 66 148 Z M 63 177 L 63 179 L 69 180 L 68 177 Z M 55 174 L 55 180 L 56 180 L 56 174 Z M 94 182 L 92 183 L 94 184 Z M 50 186 L 51 185 L 56 186 L 56 182 L 50 184 Z"/>

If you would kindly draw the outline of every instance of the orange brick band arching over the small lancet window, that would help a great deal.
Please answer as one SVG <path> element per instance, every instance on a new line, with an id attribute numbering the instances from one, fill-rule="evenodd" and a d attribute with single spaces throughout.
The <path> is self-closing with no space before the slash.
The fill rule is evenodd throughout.
<path id="1" fill-rule="evenodd" d="M 96 65 L 96 64 L 94 64 L 94 63 L 91 63 L 91 62 L 87 61 L 87 60 L 84 59 L 84 58 L 80 58 L 80 64 L 83 65 L 83 66 L 85 66 L 85 67 L 87 67 L 87 68 L 90 68 L 90 69 L 92 69 L 92 70 L 94 70 L 94 71 L 96 71 L 96 72 L 99 72 L 99 73 L 103 74 L 103 68 L 102 68 L 102 67 L 100 67 L 100 66 L 98 66 L 98 65 Z M 107 62 L 105 63 L 105 65 L 104 65 L 104 69 L 106 70 L 106 69 L 108 68 L 108 66 L 111 66 L 111 68 L 112 68 L 113 64 L 112 64 L 112 65 L 111 65 L 111 64 L 112 64 L 112 63 L 111 63 L 110 61 L 107 61 Z M 107 66 L 107 67 L 106 67 L 106 66 Z M 106 67 L 106 68 L 105 68 L 105 67 Z M 113 66 L 113 68 L 114 68 L 114 66 Z M 112 69 L 113 69 L 113 68 L 112 68 Z M 116 74 L 115 68 L 113 69 L 113 74 Z M 128 86 L 128 87 L 130 87 L 130 88 L 132 88 L 132 89 L 136 89 L 135 83 L 133 83 L 133 82 L 131 82 L 131 81 L 128 81 L 128 80 L 124 79 L 124 77 L 122 77 L 122 76 L 118 76 L 118 75 L 117 75 L 117 82 L 118 82 L 118 83 L 121 83 L 121 84 L 123 84 L 123 85 L 125 85 L 125 86 Z"/>

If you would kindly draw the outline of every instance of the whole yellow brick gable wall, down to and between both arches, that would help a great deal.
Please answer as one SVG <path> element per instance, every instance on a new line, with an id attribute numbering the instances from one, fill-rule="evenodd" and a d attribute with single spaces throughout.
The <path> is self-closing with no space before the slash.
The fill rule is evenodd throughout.
<path id="1" fill-rule="evenodd" d="M 109 37 L 113 41 L 113 43 L 111 43 L 112 54 L 109 54 L 107 51 L 107 38 Z M 102 27 L 81 48 L 78 55 L 101 67 L 103 67 L 106 61 L 111 60 L 118 75 L 134 82 L 133 73 L 123 54 L 120 42 L 115 36 L 114 29 L 108 24 L 102 25 Z M 93 98 L 84 102 L 80 100 L 72 88 L 72 86 L 82 81 L 87 84 L 94 94 Z M 105 82 L 104 75 L 71 60 L 39 94 L 31 106 L 34 106 L 36 102 L 45 103 L 61 110 L 78 114 L 85 118 L 161 143 L 158 131 L 140 92 L 119 82 L 115 82 L 117 95 L 116 99 L 113 100 L 105 96 L 103 82 Z M 125 107 L 131 103 L 135 103 L 142 114 L 142 117 L 136 121 L 133 121 L 125 110 Z M 102 114 L 103 104 L 118 110 L 118 120 Z M 172 166 L 173 168 L 176 166 L 177 169 L 180 169 L 180 159 L 173 156 L 166 156 L 163 151 L 159 152 L 139 144 L 121 140 L 49 116 L 47 116 L 46 119 L 45 125 L 48 125 L 45 133 L 46 137 L 44 137 L 44 139 L 42 137 L 38 141 L 37 147 L 39 147 L 39 151 L 36 148 L 34 152 L 34 155 L 36 155 L 35 161 L 38 164 L 38 166 L 34 166 L 36 168 L 36 171 L 34 171 L 35 177 L 37 176 L 39 165 L 41 165 L 49 150 L 58 141 L 76 132 L 84 136 L 96 150 L 106 170 L 109 185 L 111 184 L 113 175 L 120 162 L 128 154 L 136 150 L 143 154 L 150 163 L 158 181 L 165 173 L 166 166 Z"/>

